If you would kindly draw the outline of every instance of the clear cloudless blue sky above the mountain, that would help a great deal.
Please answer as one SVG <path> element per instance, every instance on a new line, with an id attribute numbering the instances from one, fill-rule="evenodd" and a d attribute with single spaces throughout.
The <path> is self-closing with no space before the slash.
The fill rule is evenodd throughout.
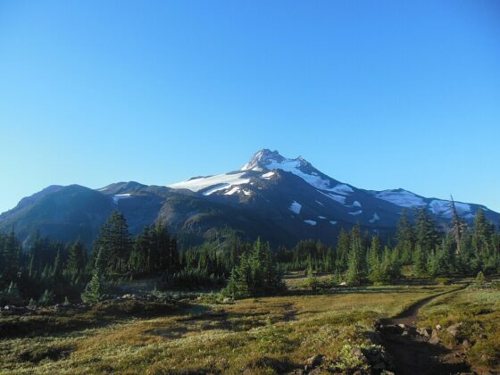
<path id="1" fill-rule="evenodd" d="M 0 0 L 0 212 L 263 147 L 500 211 L 500 4 Z"/>

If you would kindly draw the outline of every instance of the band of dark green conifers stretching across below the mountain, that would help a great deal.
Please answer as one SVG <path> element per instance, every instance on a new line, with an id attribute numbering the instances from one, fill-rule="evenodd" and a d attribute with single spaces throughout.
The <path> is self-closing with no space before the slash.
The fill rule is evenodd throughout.
<path id="1" fill-rule="evenodd" d="M 417 277 L 500 272 L 500 230 L 480 209 L 471 226 L 453 200 L 450 210 L 447 228 L 425 208 L 404 211 L 395 237 L 385 243 L 358 224 L 341 229 L 337 246 L 303 240 L 276 251 L 230 231 L 223 240 L 179 250 L 162 223 L 132 237 L 120 212 L 112 212 L 89 252 L 80 240 L 64 244 L 39 234 L 23 249 L 12 229 L 0 233 L 0 303 L 93 302 L 104 298 L 110 280 L 151 276 L 165 288 L 225 286 L 222 294 L 237 298 L 282 289 L 283 271 L 329 272 L 351 285 L 390 282 L 401 277 L 402 267 Z"/>

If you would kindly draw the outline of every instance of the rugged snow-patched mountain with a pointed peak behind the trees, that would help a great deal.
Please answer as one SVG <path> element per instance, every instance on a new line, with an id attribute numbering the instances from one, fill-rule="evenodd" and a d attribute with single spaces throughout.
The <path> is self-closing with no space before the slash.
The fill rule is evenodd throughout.
<path id="1" fill-rule="evenodd" d="M 25 242 L 40 234 L 64 241 L 81 237 L 90 245 L 110 212 L 120 210 L 137 234 L 155 221 L 167 224 L 185 244 L 237 232 L 292 245 L 303 238 L 335 243 L 341 228 L 357 222 L 387 237 L 403 209 L 425 207 L 438 222 L 451 218 L 449 201 L 418 196 L 404 189 L 365 190 L 332 179 L 304 158 L 287 159 L 263 149 L 239 171 L 202 176 L 168 187 L 119 182 L 97 190 L 78 185 L 52 186 L 23 198 L 0 215 L 0 230 L 12 227 Z M 482 208 L 497 222 L 500 215 L 479 204 L 455 202 L 465 221 Z"/>

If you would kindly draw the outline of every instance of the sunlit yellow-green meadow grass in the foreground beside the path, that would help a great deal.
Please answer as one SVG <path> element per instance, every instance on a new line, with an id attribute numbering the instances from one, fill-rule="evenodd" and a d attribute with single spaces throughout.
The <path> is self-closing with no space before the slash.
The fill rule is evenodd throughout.
<path id="1" fill-rule="evenodd" d="M 297 283 L 297 279 L 288 282 Z M 376 321 L 452 288 L 345 287 L 318 294 L 296 291 L 290 296 L 250 298 L 230 304 L 216 303 L 207 296 L 163 310 L 149 308 L 147 314 L 141 314 L 141 307 L 135 305 L 128 307 L 131 313 L 120 310 L 118 321 L 108 319 L 112 316 L 109 308 L 100 319 L 101 312 L 96 308 L 79 316 L 76 325 L 68 324 L 74 315 L 54 316 L 49 333 L 30 337 L 13 334 L 2 339 L 0 371 L 276 373 L 304 369 L 315 355 L 321 355 L 321 368 L 332 371 L 368 368 L 368 359 L 353 353 L 360 348 L 364 354 L 385 355 L 375 332 Z M 426 309 L 426 321 L 422 323 L 454 321 L 450 315 L 454 307 L 446 310 L 447 298 L 457 298 L 454 305 L 484 303 L 497 307 L 494 300 L 498 296 L 487 293 L 476 294 L 473 301 L 466 302 L 462 302 L 464 298 L 472 298 L 468 291 L 442 297 Z M 499 319 L 498 310 L 487 309 L 485 313 Z M 465 318 L 460 316 L 462 321 Z M 6 329 L 16 318 L 2 319 Z M 39 317 L 24 319 L 29 323 Z"/>

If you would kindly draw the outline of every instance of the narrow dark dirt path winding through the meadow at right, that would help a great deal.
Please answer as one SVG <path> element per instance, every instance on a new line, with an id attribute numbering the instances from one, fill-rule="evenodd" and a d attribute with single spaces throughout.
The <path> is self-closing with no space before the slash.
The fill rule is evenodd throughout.
<path id="1" fill-rule="evenodd" d="M 396 317 L 381 321 L 380 333 L 387 353 L 391 354 L 394 359 L 397 375 L 441 375 L 471 371 L 471 367 L 463 361 L 461 351 L 430 344 L 425 337 L 417 333 L 415 327 L 422 306 L 429 304 L 438 296 L 455 293 L 464 287 L 467 285 L 429 296 L 412 304 Z M 406 327 L 402 329 L 400 324 Z"/>

